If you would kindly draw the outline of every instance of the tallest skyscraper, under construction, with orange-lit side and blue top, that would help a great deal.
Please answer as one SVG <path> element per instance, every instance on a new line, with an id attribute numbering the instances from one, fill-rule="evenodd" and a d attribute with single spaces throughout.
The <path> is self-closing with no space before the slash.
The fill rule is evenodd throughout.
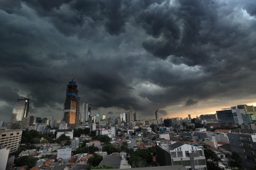
<path id="1" fill-rule="evenodd" d="M 66 99 L 64 102 L 64 116 L 63 121 L 68 124 L 70 129 L 76 127 L 76 116 L 77 116 L 77 100 L 78 100 L 78 90 L 76 82 L 72 81 L 67 84 L 66 89 Z"/>

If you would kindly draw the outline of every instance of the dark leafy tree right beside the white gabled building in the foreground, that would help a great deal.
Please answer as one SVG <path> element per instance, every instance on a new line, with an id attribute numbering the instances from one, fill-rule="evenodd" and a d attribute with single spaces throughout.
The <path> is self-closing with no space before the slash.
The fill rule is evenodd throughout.
<path id="1" fill-rule="evenodd" d="M 211 149 L 204 150 L 204 156 L 206 160 L 206 166 L 208 170 L 216 170 L 219 166 L 219 158 L 217 154 Z"/>

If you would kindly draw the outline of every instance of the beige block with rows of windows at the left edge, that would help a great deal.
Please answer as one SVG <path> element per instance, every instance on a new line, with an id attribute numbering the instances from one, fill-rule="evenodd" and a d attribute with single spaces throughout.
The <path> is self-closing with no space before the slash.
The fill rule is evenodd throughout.
<path id="1" fill-rule="evenodd" d="M 0 130 L 0 145 L 7 149 L 10 149 L 9 152 L 15 152 L 18 150 L 20 140 L 21 140 L 21 129 L 8 130 L 1 129 Z"/>

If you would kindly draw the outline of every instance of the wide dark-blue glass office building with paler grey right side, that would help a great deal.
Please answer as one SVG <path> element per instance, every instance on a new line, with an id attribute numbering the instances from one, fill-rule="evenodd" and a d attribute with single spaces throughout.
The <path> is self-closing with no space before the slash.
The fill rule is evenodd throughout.
<path id="1" fill-rule="evenodd" d="M 216 111 L 219 123 L 234 123 L 234 124 L 248 124 L 245 109 L 238 109 L 234 106 L 231 108 L 223 108 Z"/>

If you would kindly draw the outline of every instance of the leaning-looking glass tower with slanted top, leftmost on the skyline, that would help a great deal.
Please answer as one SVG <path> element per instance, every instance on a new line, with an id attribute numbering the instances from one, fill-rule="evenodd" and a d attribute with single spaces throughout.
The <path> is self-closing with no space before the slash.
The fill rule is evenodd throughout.
<path id="1" fill-rule="evenodd" d="M 19 98 L 13 107 L 10 124 L 21 121 L 22 117 L 27 117 L 28 108 L 29 98 Z"/>

